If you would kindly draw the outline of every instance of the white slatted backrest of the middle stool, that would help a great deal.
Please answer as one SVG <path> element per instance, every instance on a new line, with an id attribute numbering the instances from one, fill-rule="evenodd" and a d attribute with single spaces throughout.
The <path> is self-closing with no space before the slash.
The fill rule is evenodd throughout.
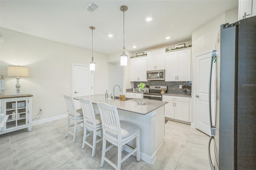
<path id="1" fill-rule="evenodd" d="M 87 121 L 93 122 L 93 128 L 96 128 L 95 113 L 92 106 L 92 102 L 84 98 L 79 98 L 79 101 L 83 111 L 84 123 L 86 124 Z M 88 120 L 86 121 L 86 119 Z M 88 126 L 91 125 L 88 124 Z"/>

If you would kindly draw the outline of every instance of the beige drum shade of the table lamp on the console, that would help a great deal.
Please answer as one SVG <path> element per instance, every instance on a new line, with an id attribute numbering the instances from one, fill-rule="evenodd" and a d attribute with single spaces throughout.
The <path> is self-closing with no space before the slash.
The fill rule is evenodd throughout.
<path id="1" fill-rule="evenodd" d="M 7 76 L 28 77 L 28 67 L 8 65 L 7 66 Z"/>

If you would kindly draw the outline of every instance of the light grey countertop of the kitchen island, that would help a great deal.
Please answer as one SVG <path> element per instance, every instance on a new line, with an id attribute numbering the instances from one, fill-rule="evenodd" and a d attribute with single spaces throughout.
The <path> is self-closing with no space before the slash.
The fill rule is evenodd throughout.
<path id="1" fill-rule="evenodd" d="M 90 100 L 92 103 L 97 104 L 97 102 L 107 103 L 108 105 L 115 105 L 117 109 L 130 111 L 133 113 L 138 113 L 142 115 L 146 115 L 159 107 L 166 105 L 168 102 L 165 101 L 156 101 L 156 100 L 149 100 L 146 105 L 139 105 L 136 103 L 134 99 L 127 100 L 127 101 L 120 101 L 119 99 L 105 99 L 105 95 L 89 95 L 89 96 L 79 96 L 74 97 L 74 99 L 79 100 L 79 98 L 84 98 Z"/>

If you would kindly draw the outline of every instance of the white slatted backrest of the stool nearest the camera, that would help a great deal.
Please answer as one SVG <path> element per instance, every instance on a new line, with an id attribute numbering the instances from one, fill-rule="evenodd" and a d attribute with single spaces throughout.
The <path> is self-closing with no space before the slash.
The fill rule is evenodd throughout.
<path id="1" fill-rule="evenodd" d="M 109 132 L 117 133 L 118 142 L 121 141 L 121 127 L 116 106 L 111 106 L 106 103 L 98 103 L 98 109 L 100 111 L 100 117 L 102 122 L 103 135 L 114 140 L 111 135 L 106 134 L 106 130 Z"/>

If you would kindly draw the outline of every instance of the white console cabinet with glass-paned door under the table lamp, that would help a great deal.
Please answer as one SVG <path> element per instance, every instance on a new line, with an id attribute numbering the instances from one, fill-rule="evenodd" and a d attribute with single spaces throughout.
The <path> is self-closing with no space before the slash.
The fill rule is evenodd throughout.
<path id="1" fill-rule="evenodd" d="M 0 134 L 28 128 L 32 130 L 32 96 L 0 96 L 0 110 L 8 120 Z"/>

